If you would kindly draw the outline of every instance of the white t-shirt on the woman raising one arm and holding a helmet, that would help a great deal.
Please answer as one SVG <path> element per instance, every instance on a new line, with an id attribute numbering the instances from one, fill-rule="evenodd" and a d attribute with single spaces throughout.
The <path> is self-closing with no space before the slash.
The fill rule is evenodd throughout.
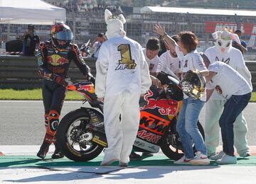
<path id="1" fill-rule="evenodd" d="M 193 50 L 186 55 L 183 55 L 183 52 L 181 52 L 178 46 L 176 46 L 175 50 L 178 58 L 181 60 L 181 72 L 183 76 L 191 69 L 198 69 L 199 71 L 207 69 L 203 62 L 203 58 L 196 50 Z M 185 93 L 184 98 L 188 98 Z M 206 101 L 206 90 L 204 91 L 203 97 L 200 100 Z"/>

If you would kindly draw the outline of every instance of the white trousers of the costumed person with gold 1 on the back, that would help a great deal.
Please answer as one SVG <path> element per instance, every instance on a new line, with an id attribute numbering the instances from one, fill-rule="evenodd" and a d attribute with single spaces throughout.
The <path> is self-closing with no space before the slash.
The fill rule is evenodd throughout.
<path id="1" fill-rule="evenodd" d="M 129 162 L 139 129 L 139 97 L 140 94 L 129 91 L 105 96 L 103 114 L 108 147 L 104 152 L 104 162 L 112 159 Z"/>

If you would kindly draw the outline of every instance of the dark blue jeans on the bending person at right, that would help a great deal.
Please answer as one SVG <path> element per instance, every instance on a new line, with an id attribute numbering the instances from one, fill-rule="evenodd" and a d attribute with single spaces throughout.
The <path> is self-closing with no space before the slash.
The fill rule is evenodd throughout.
<path id="1" fill-rule="evenodd" d="M 225 154 L 234 156 L 234 129 L 233 124 L 238 115 L 249 103 L 252 93 L 242 96 L 231 96 L 224 105 L 224 110 L 220 116 L 220 129 L 223 139 L 223 151 Z"/>

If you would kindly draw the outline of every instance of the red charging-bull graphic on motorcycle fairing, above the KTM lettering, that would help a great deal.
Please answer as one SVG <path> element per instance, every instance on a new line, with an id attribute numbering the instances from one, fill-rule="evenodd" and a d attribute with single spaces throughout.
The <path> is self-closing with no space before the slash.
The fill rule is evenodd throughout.
<path id="1" fill-rule="evenodd" d="M 176 111 L 178 108 L 177 101 L 165 98 L 159 100 L 149 98 L 152 95 L 152 91 L 149 90 L 148 93 L 144 96 L 144 100 L 147 101 L 147 105 L 140 108 L 140 110 L 159 108 L 159 113 L 161 115 L 176 115 Z"/>

